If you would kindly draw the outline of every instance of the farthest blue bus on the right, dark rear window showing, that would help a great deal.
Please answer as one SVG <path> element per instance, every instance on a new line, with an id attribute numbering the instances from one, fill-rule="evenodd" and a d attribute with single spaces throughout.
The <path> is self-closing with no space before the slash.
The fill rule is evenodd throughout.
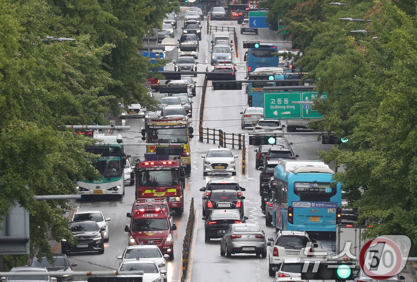
<path id="1" fill-rule="evenodd" d="M 274 55 L 276 51 L 276 45 L 268 43 L 259 43 L 258 48 L 249 48 L 244 57 L 246 75 L 257 67 L 278 67 L 279 58 Z"/>

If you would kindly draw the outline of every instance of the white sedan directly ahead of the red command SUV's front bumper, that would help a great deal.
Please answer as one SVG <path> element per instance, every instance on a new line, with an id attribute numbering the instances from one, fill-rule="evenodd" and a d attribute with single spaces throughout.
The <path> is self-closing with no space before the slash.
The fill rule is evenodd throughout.
<path id="1" fill-rule="evenodd" d="M 137 258 L 153 260 L 158 265 L 159 270 L 165 270 L 166 272 L 166 260 L 169 255 L 162 255 L 157 245 L 132 245 L 127 246 L 123 252 L 123 255 L 119 255 L 116 258 L 119 261 L 119 266 L 126 261 L 136 261 Z M 139 260 L 140 260 L 139 259 Z"/>

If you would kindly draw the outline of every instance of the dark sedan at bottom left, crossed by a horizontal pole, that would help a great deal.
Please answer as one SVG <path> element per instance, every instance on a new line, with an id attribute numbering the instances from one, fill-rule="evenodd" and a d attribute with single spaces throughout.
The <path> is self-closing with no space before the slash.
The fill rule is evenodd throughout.
<path id="1" fill-rule="evenodd" d="M 76 267 L 77 263 L 71 263 L 68 260 L 67 255 L 63 254 L 53 254 L 52 262 L 48 261 L 48 258 L 46 255 L 42 255 L 39 260 L 37 258 L 37 255 L 33 258 L 32 262 L 30 262 L 30 266 L 32 267 L 46 267 L 48 272 L 68 272 L 66 275 L 53 275 L 51 276 L 56 277 L 57 282 L 63 282 L 63 281 L 70 281 L 73 280 L 73 272 L 74 267 Z"/>

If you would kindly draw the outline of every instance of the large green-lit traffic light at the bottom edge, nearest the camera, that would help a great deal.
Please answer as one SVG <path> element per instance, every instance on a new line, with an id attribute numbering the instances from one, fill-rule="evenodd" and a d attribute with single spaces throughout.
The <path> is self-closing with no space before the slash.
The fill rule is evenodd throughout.
<path id="1" fill-rule="evenodd" d="M 314 262 L 309 263 L 306 272 L 301 272 L 301 278 L 305 280 L 333 280 L 337 282 L 344 282 L 353 280 L 354 264 L 352 262 L 319 262 L 319 267 L 314 265 Z M 317 264 L 318 262 L 316 262 Z M 301 266 L 303 269 L 303 266 Z"/>

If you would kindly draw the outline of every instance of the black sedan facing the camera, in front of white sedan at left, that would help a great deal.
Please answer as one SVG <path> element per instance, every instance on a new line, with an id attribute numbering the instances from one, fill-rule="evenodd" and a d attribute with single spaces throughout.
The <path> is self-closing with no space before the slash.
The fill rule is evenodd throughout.
<path id="1" fill-rule="evenodd" d="M 73 221 L 70 222 L 70 229 L 77 238 L 75 245 L 71 245 L 66 239 L 61 240 L 61 253 L 68 252 L 93 252 L 104 253 L 104 237 L 101 233 L 106 227 L 98 227 L 97 222 Z"/>

